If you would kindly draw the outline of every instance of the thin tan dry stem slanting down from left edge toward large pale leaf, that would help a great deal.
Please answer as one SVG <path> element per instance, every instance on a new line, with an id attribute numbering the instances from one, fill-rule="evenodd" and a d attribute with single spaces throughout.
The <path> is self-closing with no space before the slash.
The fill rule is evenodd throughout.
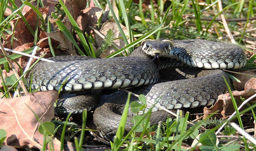
<path id="1" fill-rule="evenodd" d="M 2 44 L 2 41 L 0 41 L 0 46 L 1 46 L 1 49 L 2 49 L 3 54 L 4 54 L 5 56 L 8 56 L 7 52 L 5 51 L 4 46 L 3 46 L 3 44 Z M 11 66 L 14 75 L 16 76 L 17 79 L 19 79 L 20 76 L 19 76 L 17 70 L 15 69 L 14 65 L 12 64 L 11 59 L 9 59 L 8 57 L 5 57 L 5 58 L 6 58 L 7 62 L 8 62 L 8 64 Z M 20 86 L 22 87 L 22 89 L 23 89 L 25 95 L 28 95 L 29 93 L 28 93 L 28 91 L 27 91 L 27 89 L 26 89 L 26 87 L 25 87 L 25 85 L 24 85 L 24 83 L 23 83 L 23 80 L 19 80 L 19 84 L 20 84 Z"/>

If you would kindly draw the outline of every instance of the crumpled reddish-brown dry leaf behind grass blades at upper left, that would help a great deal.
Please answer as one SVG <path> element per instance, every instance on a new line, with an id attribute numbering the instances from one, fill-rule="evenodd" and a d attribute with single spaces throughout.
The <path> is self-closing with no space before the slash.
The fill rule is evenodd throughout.
<path id="1" fill-rule="evenodd" d="M 23 9 L 23 11 L 24 11 L 24 9 Z M 47 12 L 48 12 L 48 8 L 46 8 L 46 7 L 39 8 L 39 11 L 43 15 L 43 18 L 45 19 Z M 25 12 L 23 12 L 23 13 L 24 13 L 24 17 L 26 18 L 28 24 L 31 26 L 31 28 L 33 30 L 35 30 L 35 28 L 37 26 L 41 25 L 40 20 L 37 25 L 37 22 L 35 21 L 35 19 L 37 18 L 37 13 L 34 12 L 33 9 L 31 9 L 29 7 L 27 9 L 25 9 Z M 12 32 L 11 35 L 9 35 L 8 38 L 6 38 L 4 40 L 6 48 L 12 48 L 13 50 L 16 50 L 16 51 L 23 51 L 23 50 L 26 50 L 26 49 L 34 46 L 34 44 L 33 44 L 34 36 L 27 28 L 23 19 L 21 19 L 21 18 L 14 19 L 10 22 L 10 24 L 12 26 L 12 29 L 14 29 L 14 31 Z M 13 36 L 15 37 L 15 39 L 12 38 Z M 39 39 L 47 38 L 46 32 L 41 30 L 40 28 L 39 28 L 37 36 L 39 37 Z M 12 45 L 11 45 L 11 43 L 12 43 Z M 56 47 L 58 45 L 58 43 L 56 43 L 56 41 L 52 41 L 52 45 L 53 45 L 53 47 Z M 43 51 L 43 53 L 47 52 L 46 51 L 47 49 L 49 50 L 49 45 L 47 45 L 47 46 L 39 45 L 39 47 L 42 48 L 40 51 Z M 40 51 L 38 51 L 36 55 L 42 54 Z M 48 51 L 47 55 L 51 56 L 50 51 Z M 22 67 L 22 69 L 24 69 L 25 66 L 27 65 L 27 59 L 28 59 L 27 57 L 20 57 L 20 58 L 16 59 L 16 61 Z M 13 64 L 14 64 L 15 69 L 17 71 L 19 71 L 20 70 L 19 66 L 15 63 L 13 63 Z"/>

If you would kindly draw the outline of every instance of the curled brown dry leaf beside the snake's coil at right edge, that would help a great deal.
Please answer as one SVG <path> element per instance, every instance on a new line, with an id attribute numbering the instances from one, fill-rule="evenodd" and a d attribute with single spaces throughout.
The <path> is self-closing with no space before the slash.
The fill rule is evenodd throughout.
<path id="1" fill-rule="evenodd" d="M 244 91 L 232 91 L 232 95 L 238 100 L 236 103 L 239 105 L 241 104 L 240 97 L 242 98 L 249 98 L 256 92 L 256 78 L 251 78 L 244 86 Z M 256 101 L 251 100 L 251 101 Z M 229 93 L 222 94 L 218 96 L 217 102 L 210 108 L 204 107 L 204 117 L 206 118 L 209 114 L 216 112 L 222 114 L 223 118 L 232 114 L 235 109 L 233 108 L 231 96 Z M 215 114 L 218 116 L 218 114 Z"/>

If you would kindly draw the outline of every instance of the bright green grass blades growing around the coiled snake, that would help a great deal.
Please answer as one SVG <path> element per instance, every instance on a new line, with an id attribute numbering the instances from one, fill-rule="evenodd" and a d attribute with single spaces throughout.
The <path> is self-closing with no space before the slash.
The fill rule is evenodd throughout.
<path id="1" fill-rule="evenodd" d="M 52 32 L 50 22 L 48 20 L 45 20 L 43 18 L 43 15 L 39 12 L 38 7 L 32 6 L 28 1 L 25 1 L 23 5 L 18 7 L 15 5 L 14 2 L 10 1 L 12 3 L 12 7 L 7 5 L 7 1 L 1 0 L 1 6 L 0 6 L 0 30 L 1 30 L 1 40 L 5 40 L 6 36 L 5 33 L 11 33 L 12 30 L 16 29 L 16 24 L 14 24 L 14 27 L 12 28 L 9 23 L 12 19 L 16 17 L 16 15 L 19 15 L 24 20 L 27 28 L 32 33 L 32 35 L 38 35 L 39 29 L 43 29 L 47 32 Z M 125 47 L 119 48 L 116 52 L 109 54 L 107 57 L 114 57 L 118 54 L 121 54 L 123 52 L 126 53 L 126 55 L 129 55 L 132 53 L 134 48 L 140 44 L 140 42 L 144 39 L 150 38 L 167 38 L 167 39 L 206 39 L 206 40 L 213 40 L 213 41 L 222 41 L 222 42 L 229 42 L 228 38 L 226 37 L 226 33 L 223 30 L 224 26 L 222 22 L 215 21 L 215 19 L 220 18 L 220 14 L 224 14 L 226 18 L 247 18 L 246 21 L 240 22 L 240 24 L 237 24 L 236 22 L 229 22 L 228 28 L 230 29 L 231 33 L 239 33 L 238 36 L 235 37 L 235 41 L 237 44 L 240 45 L 249 45 L 246 40 L 250 39 L 251 41 L 256 41 L 253 31 L 252 32 L 246 32 L 250 28 L 255 28 L 256 24 L 254 20 L 249 20 L 249 17 L 254 17 L 255 13 L 255 7 L 256 3 L 254 1 L 222 1 L 223 10 L 218 11 L 218 3 L 217 1 L 210 1 L 206 0 L 206 5 L 200 5 L 198 1 L 196 0 L 182 0 L 182 1 L 162 1 L 158 0 L 153 5 L 153 1 L 149 0 L 149 3 L 151 4 L 151 8 L 144 8 L 142 7 L 142 0 L 139 0 L 139 4 L 135 4 L 132 0 L 128 1 L 116 1 L 116 5 L 112 5 L 109 0 L 107 2 L 103 2 L 100 0 L 94 0 L 94 3 L 97 7 L 105 8 L 105 5 L 108 4 L 110 6 L 110 14 L 108 16 L 109 19 L 114 19 L 114 21 L 117 24 L 117 27 L 119 28 L 121 37 L 124 40 L 124 43 L 126 44 Z M 40 3 L 41 4 L 41 3 Z M 35 19 L 37 22 L 37 26 L 35 29 L 32 29 L 29 23 L 26 21 L 24 15 L 21 13 L 21 10 L 24 6 L 30 6 L 34 12 L 37 13 L 38 17 Z M 37 4 L 39 6 L 39 3 Z M 62 9 L 60 9 L 60 6 L 62 6 Z M 149 5 L 146 5 L 149 6 Z M 6 8 L 10 8 L 12 10 L 12 13 L 5 17 L 4 11 Z M 117 14 L 114 13 L 114 9 L 118 11 Z M 73 47 L 76 48 L 78 53 L 80 55 L 87 55 L 90 57 L 96 57 L 98 56 L 97 53 L 94 52 L 92 49 L 93 42 L 95 41 L 94 37 L 92 35 L 86 35 L 82 33 L 81 29 L 79 29 L 78 25 L 76 24 L 76 21 L 72 18 L 71 14 L 68 12 L 68 9 L 64 6 L 63 2 L 59 0 L 59 5 L 56 6 L 56 12 L 51 14 L 51 17 L 53 19 L 58 19 L 56 21 L 56 24 L 60 31 L 65 35 L 66 38 L 68 38 Z M 62 22 L 62 18 L 64 17 L 63 13 L 65 13 L 73 27 L 73 30 L 70 32 L 65 25 Z M 62 14 L 62 17 L 59 18 L 59 15 Z M 189 15 L 192 17 L 195 17 L 195 19 L 190 18 L 184 18 L 185 15 Z M 140 20 L 135 19 L 135 16 L 139 17 Z M 202 18 L 211 18 L 211 21 L 205 21 L 202 20 Z M 38 26 L 38 22 L 42 23 L 42 26 Z M 46 24 L 47 23 L 47 24 Z M 122 30 L 120 24 L 127 27 L 128 35 L 124 34 L 124 31 Z M 95 28 L 99 27 L 100 24 L 96 24 Z M 79 38 L 79 42 L 81 42 L 82 45 L 78 45 L 77 38 L 74 37 L 74 35 L 77 34 Z M 134 39 L 136 38 L 136 39 Z M 222 38 L 222 39 L 219 39 Z M 11 41 L 13 42 L 15 40 L 15 37 L 11 37 Z M 50 39 L 50 38 L 49 38 Z M 38 36 L 34 36 L 34 45 L 37 44 L 39 41 Z M 88 41 L 88 43 L 86 42 Z M 111 42 L 109 42 L 110 44 Z M 13 43 L 11 43 L 11 48 L 13 46 Z M 55 52 L 53 51 L 52 46 L 50 45 L 51 53 L 55 55 Z M 84 51 L 83 51 L 84 50 Z M 126 51 L 128 50 L 128 51 Z M 31 49 L 25 50 L 25 53 L 31 53 Z M 127 53 L 128 52 L 128 53 Z M 12 59 L 15 59 L 17 57 L 20 57 L 20 55 L 10 55 L 9 56 Z M 256 59 L 256 55 L 252 56 L 250 60 L 248 61 L 247 66 L 244 67 L 244 69 L 255 69 L 256 65 L 253 63 L 253 61 Z M 0 63 L 5 63 L 5 59 L 0 59 Z M 35 65 L 35 64 L 34 64 Z M 31 68 L 30 68 L 31 69 Z M 28 71 L 29 72 L 29 71 Z M 2 70 L 0 70 L 0 73 L 2 73 Z M 24 73 L 20 79 L 18 80 L 26 80 L 23 78 L 23 76 L 26 73 Z M 1 76 L 2 78 L 2 76 Z M 17 83 L 18 80 L 15 81 L 15 83 L 8 87 L 5 85 L 4 82 L 4 90 L 2 93 L 4 93 L 4 96 L 11 98 L 11 93 L 14 91 L 18 91 L 17 89 Z M 249 106 L 246 110 L 238 111 L 238 107 L 233 99 L 233 106 L 236 109 L 237 115 L 232 118 L 238 119 L 239 126 L 243 129 L 245 128 L 244 122 L 241 119 L 240 115 L 250 111 L 252 112 L 252 118 L 255 120 L 255 114 L 254 114 L 254 108 L 255 105 Z M 147 115 L 151 114 L 151 110 L 149 112 L 145 113 L 142 117 L 139 118 L 138 121 L 136 121 L 135 126 L 132 128 L 132 131 L 128 132 L 126 136 L 124 136 L 124 124 L 126 121 L 127 111 L 128 111 L 128 104 L 129 101 L 127 101 L 125 110 L 122 115 L 122 124 L 119 126 L 119 130 L 116 134 L 116 137 L 114 138 L 114 142 L 111 144 L 111 150 L 119 150 L 123 143 L 126 142 L 128 146 L 124 150 L 186 150 L 182 146 L 183 142 L 189 142 L 191 139 L 194 139 L 197 134 L 199 133 L 198 129 L 200 129 L 201 126 L 203 126 L 205 123 L 204 120 L 196 123 L 196 124 L 187 124 L 187 121 L 189 119 L 189 114 L 186 113 L 184 118 L 176 118 L 176 119 L 168 119 L 167 121 L 164 121 L 162 123 L 159 123 L 158 125 L 152 126 L 148 128 L 145 125 L 148 125 L 149 118 L 146 118 Z M 84 142 L 84 133 L 85 133 L 85 125 L 86 125 L 86 119 L 87 119 L 87 112 L 85 111 L 83 113 L 83 122 L 82 126 L 77 128 L 76 126 L 70 126 L 67 125 L 68 118 L 66 118 L 66 121 L 64 121 L 64 125 L 59 124 L 54 134 L 58 131 L 61 131 L 60 140 L 62 142 L 62 147 L 65 144 L 64 138 L 66 136 L 71 136 L 70 140 L 73 140 L 76 146 L 76 150 L 82 150 L 82 145 Z M 230 119 L 231 120 L 231 119 Z M 230 120 L 224 120 L 224 122 L 229 123 Z M 145 122 L 145 124 L 141 124 L 141 122 Z M 213 120 L 214 121 L 214 120 Z M 61 125 L 61 126 L 60 126 Z M 214 134 L 214 131 L 220 127 L 221 124 L 217 124 L 214 128 L 211 130 L 207 130 L 199 137 L 198 143 L 202 143 L 203 147 L 201 147 L 201 150 L 206 150 L 206 148 L 210 148 L 211 150 L 225 150 L 223 145 L 216 145 L 216 135 Z M 68 126 L 68 130 L 67 129 Z M 142 127 L 140 136 L 135 136 L 135 131 L 137 131 L 138 127 Z M 187 128 L 189 127 L 189 129 Z M 47 128 L 47 127 L 46 127 Z M 150 133 L 152 130 L 155 130 L 155 134 Z M 45 130 L 46 131 L 46 130 Z M 226 133 L 231 132 L 231 128 L 228 126 L 225 127 Z M 69 132 L 69 133 L 67 133 Z M 79 132 L 81 134 L 79 135 Z M 51 133 L 52 135 L 52 133 Z M 146 135 L 146 138 L 143 138 L 143 136 Z M 45 144 L 47 143 L 47 137 L 49 137 L 49 132 L 45 133 Z M 4 138 L 1 136 L 0 139 Z M 209 140 L 209 141 L 204 141 Z M 245 150 L 249 150 L 250 148 L 256 149 L 256 145 L 254 144 L 248 144 L 247 139 L 243 137 L 242 142 L 245 146 Z M 136 143 L 139 142 L 139 143 Z M 144 143 L 140 143 L 144 142 Z M 210 143 L 209 143 L 210 142 Z M 133 144 L 135 143 L 135 144 Z M 225 146 L 225 144 L 224 144 Z M 229 150 L 237 150 L 237 147 L 240 147 L 238 142 L 231 143 L 228 146 Z M 123 148 L 122 148 L 123 149 Z M 194 150 L 192 148 L 191 150 Z"/>

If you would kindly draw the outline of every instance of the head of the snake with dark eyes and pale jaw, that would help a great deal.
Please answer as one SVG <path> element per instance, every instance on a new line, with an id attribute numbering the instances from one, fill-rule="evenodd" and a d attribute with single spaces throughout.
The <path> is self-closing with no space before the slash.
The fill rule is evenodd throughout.
<path id="1" fill-rule="evenodd" d="M 168 39 L 147 39 L 141 42 L 142 50 L 155 58 L 169 57 L 169 52 L 173 48 L 173 43 Z"/>

